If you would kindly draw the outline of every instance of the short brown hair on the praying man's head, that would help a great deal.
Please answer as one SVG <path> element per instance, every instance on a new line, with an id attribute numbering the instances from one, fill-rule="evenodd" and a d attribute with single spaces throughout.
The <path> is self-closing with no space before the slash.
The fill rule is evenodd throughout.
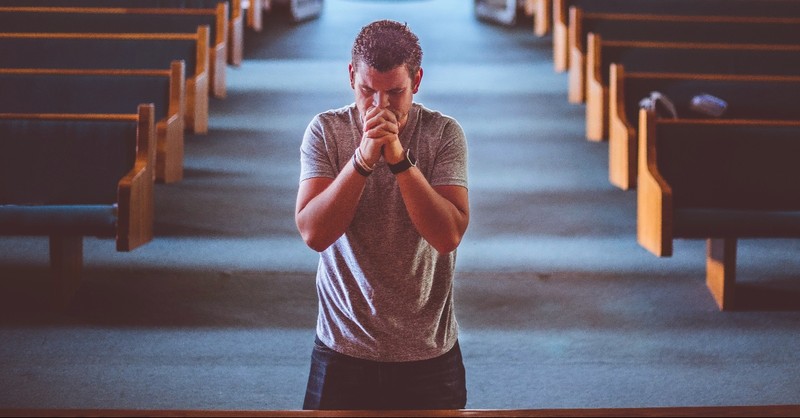
<path id="1" fill-rule="evenodd" d="M 378 20 L 361 28 L 353 43 L 352 60 L 354 67 L 363 61 L 380 72 L 405 65 L 413 79 L 422 66 L 422 48 L 407 23 Z"/>

